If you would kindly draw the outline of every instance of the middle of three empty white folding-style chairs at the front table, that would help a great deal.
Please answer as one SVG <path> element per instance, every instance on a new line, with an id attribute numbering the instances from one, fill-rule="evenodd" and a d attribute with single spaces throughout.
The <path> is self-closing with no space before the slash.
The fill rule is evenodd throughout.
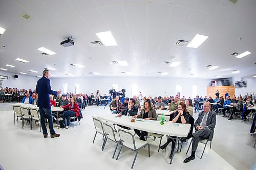
<path id="1" fill-rule="evenodd" d="M 119 134 L 117 132 L 115 132 L 112 124 L 104 123 L 103 122 L 103 128 L 104 128 L 104 132 L 105 132 L 105 139 L 104 139 L 104 142 L 103 142 L 102 151 L 104 150 L 106 141 L 108 139 L 110 139 L 113 142 L 115 142 L 116 143 L 116 147 L 115 147 L 115 151 L 114 151 L 113 156 L 112 156 L 112 159 L 113 159 L 115 154 L 116 154 L 116 149 L 118 147 L 118 144 L 121 143 L 120 137 L 119 137 Z"/>

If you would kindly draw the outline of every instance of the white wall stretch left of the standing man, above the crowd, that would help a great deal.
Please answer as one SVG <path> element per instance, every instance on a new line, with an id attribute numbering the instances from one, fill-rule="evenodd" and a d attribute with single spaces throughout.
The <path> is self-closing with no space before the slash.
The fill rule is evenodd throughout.
<path id="1" fill-rule="evenodd" d="M 0 71 L 0 75 L 8 76 L 8 79 L 3 80 L 2 87 L 18 88 L 18 89 L 33 89 L 35 90 L 36 82 L 39 78 L 26 75 L 14 74 L 12 72 Z M 14 75 L 18 75 L 18 78 L 14 78 Z"/>

